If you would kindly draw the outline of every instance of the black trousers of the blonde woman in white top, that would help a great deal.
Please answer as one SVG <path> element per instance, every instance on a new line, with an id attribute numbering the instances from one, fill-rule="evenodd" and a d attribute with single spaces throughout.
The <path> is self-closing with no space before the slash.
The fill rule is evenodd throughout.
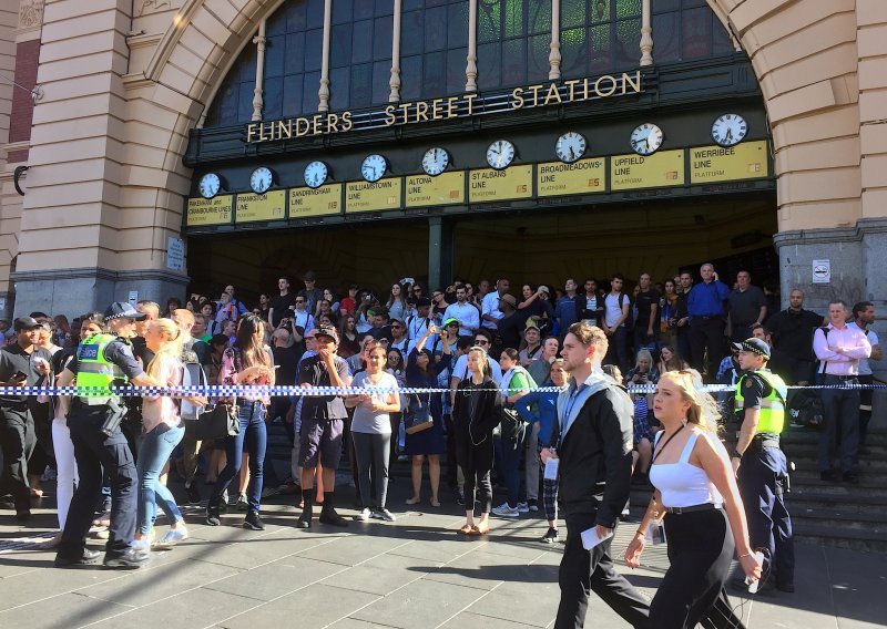
<path id="1" fill-rule="evenodd" d="M 650 604 L 650 627 L 743 627 L 724 591 L 736 545 L 723 509 L 669 514 L 665 536 L 671 566 Z"/>

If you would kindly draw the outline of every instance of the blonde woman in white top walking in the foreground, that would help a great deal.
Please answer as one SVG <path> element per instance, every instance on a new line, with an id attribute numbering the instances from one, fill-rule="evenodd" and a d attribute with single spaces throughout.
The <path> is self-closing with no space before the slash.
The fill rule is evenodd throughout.
<path id="1" fill-rule="evenodd" d="M 662 422 L 650 482 L 655 487 L 641 527 L 625 550 L 640 565 L 648 530 L 664 519 L 671 567 L 650 605 L 656 629 L 743 627 L 724 591 L 734 549 L 747 577 L 761 578 L 748 545 L 745 509 L 730 457 L 716 435 L 717 408 L 692 370 L 664 373 L 653 396 Z"/>

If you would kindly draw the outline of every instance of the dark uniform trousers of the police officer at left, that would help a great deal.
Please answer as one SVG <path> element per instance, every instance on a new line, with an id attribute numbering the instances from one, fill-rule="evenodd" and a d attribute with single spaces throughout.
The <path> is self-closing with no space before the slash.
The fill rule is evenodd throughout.
<path id="1" fill-rule="evenodd" d="M 68 413 L 68 427 L 74 443 L 80 474 L 68 520 L 59 545 L 59 556 L 75 559 L 83 555 L 83 538 L 92 525 L 95 504 L 102 492 L 102 468 L 111 481 L 111 526 L 105 556 L 119 557 L 135 535 L 137 475 L 126 437 L 116 429 L 111 436 L 102 431 L 105 406 L 74 405 Z"/>

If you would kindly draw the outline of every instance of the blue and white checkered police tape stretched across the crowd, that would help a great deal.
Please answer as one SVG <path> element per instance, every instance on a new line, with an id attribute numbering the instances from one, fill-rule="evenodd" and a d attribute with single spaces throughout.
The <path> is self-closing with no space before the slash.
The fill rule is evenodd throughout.
<path id="1" fill-rule="evenodd" d="M 865 389 L 887 389 L 887 384 L 814 384 L 814 385 L 793 385 L 788 389 L 794 390 L 865 390 Z M 501 391 L 498 388 L 483 389 L 485 391 Z M 541 393 L 560 393 L 563 389 L 558 386 L 539 386 L 531 389 Z M 630 393 L 654 393 L 654 384 L 632 385 L 628 388 Z M 706 384 L 702 390 L 707 393 L 733 392 L 735 385 L 731 384 Z M 205 384 L 190 386 L 112 386 L 113 395 L 121 398 L 139 396 L 172 396 L 172 398 L 232 398 L 232 396 L 287 396 L 287 398 L 320 398 L 329 395 L 366 395 L 383 393 L 443 393 L 450 389 L 427 388 L 427 386 L 404 386 L 400 389 L 376 388 L 376 386 L 294 386 L 294 385 L 227 385 L 227 384 Z M 481 389 L 472 389 L 481 391 Z M 509 393 L 530 391 L 530 389 L 509 389 Z M 78 395 L 82 398 L 101 398 L 108 395 L 108 389 L 99 386 L 0 386 L 0 398 L 21 398 L 21 396 L 59 396 Z"/>

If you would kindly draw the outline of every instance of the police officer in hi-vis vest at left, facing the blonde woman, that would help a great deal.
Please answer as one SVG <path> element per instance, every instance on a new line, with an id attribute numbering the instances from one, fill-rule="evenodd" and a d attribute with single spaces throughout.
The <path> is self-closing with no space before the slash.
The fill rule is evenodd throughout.
<path id="1" fill-rule="evenodd" d="M 80 474 L 80 484 L 71 501 L 55 556 L 59 568 L 80 567 L 99 560 L 99 553 L 89 550 L 84 538 L 101 493 L 102 468 L 111 480 L 111 526 L 104 565 L 137 568 L 147 560 L 147 553 L 136 551 L 130 546 L 135 533 L 135 464 L 120 430 L 125 405 L 110 389 L 126 383 L 159 384 L 144 373 L 130 342 L 135 336 L 135 321 L 144 317 L 129 303 L 112 303 L 104 313 L 108 332 L 83 339 L 74 359 L 59 377 L 61 386 L 71 384 L 77 378 L 78 394 L 68 413 L 68 427 Z"/>

